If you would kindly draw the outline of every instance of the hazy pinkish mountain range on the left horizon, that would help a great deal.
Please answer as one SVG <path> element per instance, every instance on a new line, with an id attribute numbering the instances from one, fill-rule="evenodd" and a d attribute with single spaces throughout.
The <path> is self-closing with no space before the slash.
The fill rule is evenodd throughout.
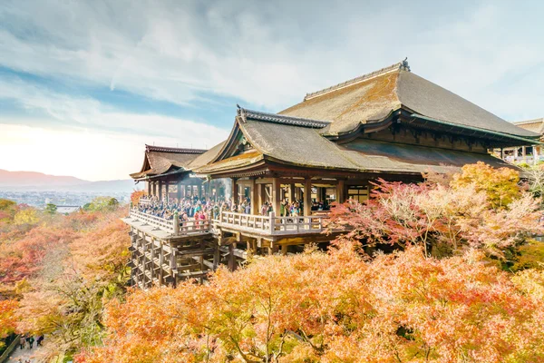
<path id="1" fill-rule="evenodd" d="M 89 182 L 73 176 L 47 175 L 42 172 L 8 172 L 0 169 L 0 189 L 4 191 L 119 191 L 142 189 L 132 180 Z"/>

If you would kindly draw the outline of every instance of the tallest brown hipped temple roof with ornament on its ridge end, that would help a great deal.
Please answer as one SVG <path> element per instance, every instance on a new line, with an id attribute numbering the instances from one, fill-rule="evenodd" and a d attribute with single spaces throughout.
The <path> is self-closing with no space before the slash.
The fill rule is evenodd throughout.
<path id="1" fill-rule="evenodd" d="M 308 93 L 302 103 L 279 114 L 329 121 L 324 134 L 338 135 L 354 131 L 360 124 L 382 121 L 399 109 L 460 127 L 537 136 L 411 73 L 403 63 Z"/>

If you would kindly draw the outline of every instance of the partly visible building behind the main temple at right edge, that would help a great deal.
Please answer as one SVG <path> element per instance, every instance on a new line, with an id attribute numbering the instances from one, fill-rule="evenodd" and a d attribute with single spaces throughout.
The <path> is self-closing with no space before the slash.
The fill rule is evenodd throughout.
<path id="1" fill-rule="evenodd" d="M 544 118 L 518 121 L 514 124 L 524 130 L 538 133 L 540 135 L 539 141 L 544 141 Z M 531 146 L 520 145 L 517 147 L 505 148 L 502 151 L 500 149 L 495 149 L 494 154 L 498 157 L 502 157 L 502 159 L 507 162 L 513 163 L 534 165 L 544 161 L 544 149 L 539 144 Z"/>

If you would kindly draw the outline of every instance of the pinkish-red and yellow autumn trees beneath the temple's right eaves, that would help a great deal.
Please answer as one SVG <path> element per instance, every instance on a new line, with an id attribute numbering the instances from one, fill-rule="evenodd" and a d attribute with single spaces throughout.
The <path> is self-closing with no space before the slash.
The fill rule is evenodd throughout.
<path id="1" fill-rule="evenodd" d="M 370 201 L 337 206 L 331 227 L 348 227 L 349 238 L 371 248 L 411 244 L 450 256 L 472 247 L 511 260 L 512 249 L 542 232 L 539 201 L 518 182 L 517 172 L 481 163 L 463 167 L 450 185 L 379 180 Z"/>

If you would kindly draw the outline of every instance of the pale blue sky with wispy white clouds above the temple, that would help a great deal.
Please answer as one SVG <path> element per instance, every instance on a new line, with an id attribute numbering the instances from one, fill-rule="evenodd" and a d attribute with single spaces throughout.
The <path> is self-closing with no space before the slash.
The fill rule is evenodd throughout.
<path id="1" fill-rule="evenodd" d="M 0 169 L 127 179 L 395 64 L 508 121 L 544 117 L 538 1 L 0 2 Z M 273 135 L 271 135 L 273 137 Z M 304 142 L 304 141 L 300 141 Z"/>

